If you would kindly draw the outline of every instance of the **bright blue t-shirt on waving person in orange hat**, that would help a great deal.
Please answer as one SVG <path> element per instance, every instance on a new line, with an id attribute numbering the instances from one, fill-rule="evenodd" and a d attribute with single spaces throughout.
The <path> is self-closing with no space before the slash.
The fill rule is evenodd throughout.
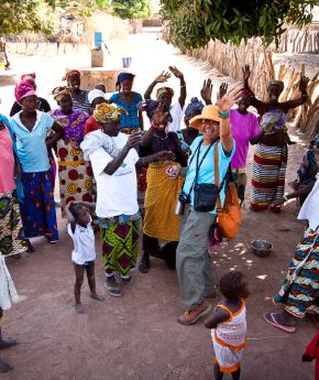
<path id="1" fill-rule="evenodd" d="M 191 155 L 188 159 L 188 167 L 187 167 L 187 173 L 186 173 L 186 177 L 185 177 L 185 183 L 183 186 L 183 192 L 185 194 L 189 194 L 190 188 L 190 205 L 194 206 L 194 181 L 195 181 L 195 175 L 196 175 L 196 161 L 197 161 L 197 151 L 196 148 L 198 146 L 198 144 L 200 143 L 200 141 L 202 141 L 202 137 L 198 137 L 194 140 L 193 144 L 190 145 L 190 150 L 191 150 Z M 207 156 L 205 158 L 204 162 L 200 165 L 199 169 L 199 173 L 198 173 L 198 183 L 208 183 L 208 184 L 215 184 L 215 149 L 216 149 L 216 144 L 213 144 L 212 148 L 210 148 L 209 153 L 207 154 Z M 198 163 L 201 162 L 202 156 L 205 155 L 205 153 L 207 152 L 207 150 L 209 149 L 209 145 L 204 145 L 201 144 L 200 149 L 199 149 L 199 159 L 198 159 Z M 196 156 L 191 160 L 193 155 L 195 154 L 196 151 Z M 221 183 L 222 178 L 224 177 L 230 161 L 234 154 L 235 151 L 235 141 L 233 141 L 233 148 L 231 153 L 226 154 L 224 150 L 222 148 L 222 143 L 221 141 L 218 142 L 218 161 L 219 161 L 219 184 Z M 190 162 L 191 161 L 191 162 Z M 190 165 L 189 165 L 190 163 Z M 224 193 L 224 186 L 220 192 L 220 202 L 221 205 L 223 206 L 224 203 L 224 197 L 226 197 L 226 193 Z M 211 214 L 217 214 L 217 209 L 215 208 L 213 211 L 211 211 Z"/>

